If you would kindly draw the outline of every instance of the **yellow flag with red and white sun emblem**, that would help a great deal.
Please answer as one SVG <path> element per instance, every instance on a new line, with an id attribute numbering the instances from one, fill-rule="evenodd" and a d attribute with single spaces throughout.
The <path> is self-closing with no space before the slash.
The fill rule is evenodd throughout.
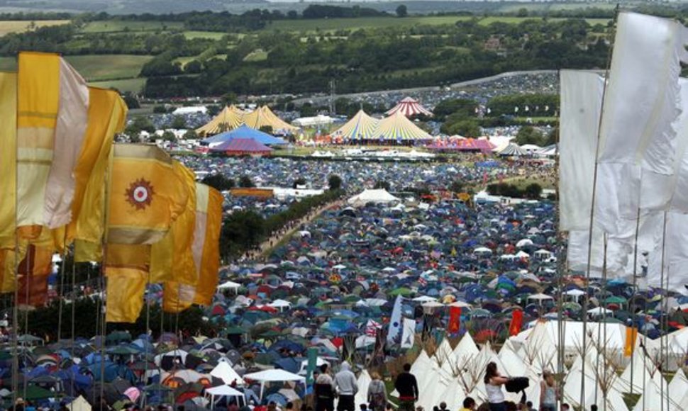
<path id="1" fill-rule="evenodd" d="M 172 159 L 154 145 L 114 146 L 109 174 L 107 242 L 154 244 L 187 205 Z"/>

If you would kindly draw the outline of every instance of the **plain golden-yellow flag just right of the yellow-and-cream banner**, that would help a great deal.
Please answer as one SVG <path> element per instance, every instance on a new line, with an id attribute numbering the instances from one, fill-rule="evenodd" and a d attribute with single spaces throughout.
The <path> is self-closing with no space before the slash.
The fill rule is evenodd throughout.
<path id="1" fill-rule="evenodd" d="M 67 239 L 100 243 L 105 229 L 105 173 L 114 135 L 125 125 L 127 107 L 116 91 L 94 87 L 89 87 L 89 102 L 86 137 L 74 168 L 73 218 Z"/>

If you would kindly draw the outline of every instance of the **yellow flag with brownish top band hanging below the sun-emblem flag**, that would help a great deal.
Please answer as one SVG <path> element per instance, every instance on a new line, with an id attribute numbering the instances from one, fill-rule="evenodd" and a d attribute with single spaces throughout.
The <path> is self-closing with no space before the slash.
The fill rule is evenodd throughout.
<path id="1" fill-rule="evenodd" d="M 150 269 L 150 245 L 106 244 L 107 322 L 136 322 Z"/>

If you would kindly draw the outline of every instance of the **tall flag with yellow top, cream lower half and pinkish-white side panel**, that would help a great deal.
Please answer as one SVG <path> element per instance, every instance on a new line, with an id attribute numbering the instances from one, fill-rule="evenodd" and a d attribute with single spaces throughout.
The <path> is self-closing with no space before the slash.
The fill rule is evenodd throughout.
<path id="1" fill-rule="evenodd" d="M 70 222 L 86 132 L 86 81 L 56 54 L 21 52 L 17 77 L 17 225 Z"/>

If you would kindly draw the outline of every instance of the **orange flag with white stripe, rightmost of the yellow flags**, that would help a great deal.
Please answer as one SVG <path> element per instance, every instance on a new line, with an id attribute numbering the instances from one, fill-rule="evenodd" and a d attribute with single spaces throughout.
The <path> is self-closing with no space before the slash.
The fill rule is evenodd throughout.
<path id="1" fill-rule="evenodd" d="M 219 191 L 196 184 L 196 227 L 192 250 L 198 281 L 195 286 L 167 281 L 162 299 L 165 312 L 179 313 L 192 304 L 210 305 L 218 284 L 222 203 Z"/>

